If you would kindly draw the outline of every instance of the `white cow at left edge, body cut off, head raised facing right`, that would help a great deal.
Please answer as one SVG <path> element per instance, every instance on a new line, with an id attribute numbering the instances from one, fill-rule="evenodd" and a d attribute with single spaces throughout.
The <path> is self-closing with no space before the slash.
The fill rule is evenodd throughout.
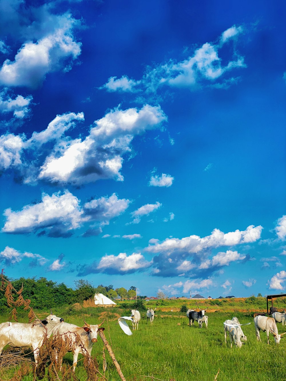
<path id="1" fill-rule="evenodd" d="M 63 322 L 64 319 L 56 315 L 49 315 L 44 320 L 33 323 L 14 323 L 5 322 L 0 324 L 0 354 L 3 347 L 9 344 L 11 347 L 32 347 L 34 352 L 35 363 L 39 355 L 40 347 L 43 344 L 43 339 L 51 336 L 54 327 Z M 42 324 L 40 323 L 42 322 Z"/>

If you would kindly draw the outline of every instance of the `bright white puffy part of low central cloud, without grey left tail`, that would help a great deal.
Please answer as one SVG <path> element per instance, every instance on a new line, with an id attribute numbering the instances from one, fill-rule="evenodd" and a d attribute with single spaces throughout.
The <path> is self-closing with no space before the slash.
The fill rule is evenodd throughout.
<path id="1" fill-rule="evenodd" d="M 151 262 L 146 261 L 141 253 L 133 253 L 129 256 L 126 253 L 120 253 L 117 256 L 106 255 L 102 257 L 97 269 L 98 271 L 127 273 L 145 269 L 150 265 Z"/>

